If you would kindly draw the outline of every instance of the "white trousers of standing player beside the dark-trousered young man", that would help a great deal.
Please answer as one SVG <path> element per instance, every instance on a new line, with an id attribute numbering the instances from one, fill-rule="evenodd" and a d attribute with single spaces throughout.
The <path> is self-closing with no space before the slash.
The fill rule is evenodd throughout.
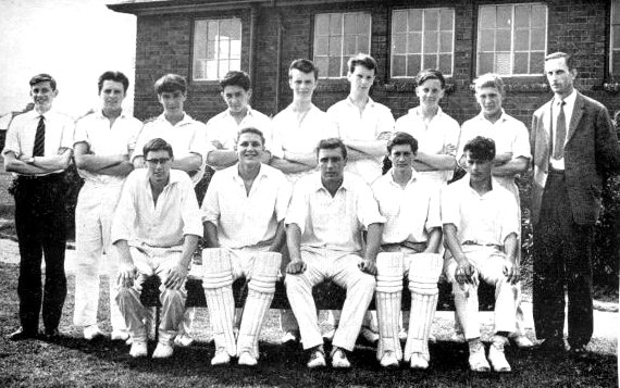
<path id="1" fill-rule="evenodd" d="M 112 330 L 125 330 L 116 303 L 116 250 L 110 245 L 112 215 L 122 185 L 95 185 L 87 182 L 75 208 L 75 308 L 73 322 L 78 326 L 97 324 L 100 268 L 110 284 L 110 321 Z"/>

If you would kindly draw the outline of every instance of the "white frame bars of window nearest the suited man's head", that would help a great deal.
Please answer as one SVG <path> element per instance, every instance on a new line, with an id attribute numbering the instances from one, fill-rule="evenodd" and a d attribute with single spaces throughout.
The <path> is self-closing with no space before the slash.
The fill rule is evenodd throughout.
<path id="1" fill-rule="evenodd" d="M 512 12 L 511 12 L 512 23 L 511 23 L 511 27 L 510 27 L 510 74 L 500 74 L 500 75 L 503 77 L 536 77 L 536 76 L 541 76 L 541 74 L 543 73 L 543 68 L 538 68 L 538 70 L 534 70 L 534 71 L 532 71 L 532 68 L 530 68 L 530 73 L 514 73 L 513 72 L 514 71 L 514 33 L 516 33 L 516 27 L 514 27 L 513 22 L 514 22 L 514 10 L 517 7 L 520 7 L 520 5 L 529 5 L 529 7 L 540 5 L 540 7 L 545 8 L 545 30 L 544 30 L 545 45 L 544 45 L 544 48 L 540 49 L 540 50 L 528 50 L 528 51 L 518 51 L 518 52 L 529 52 L 530 54 L 532 52 L 542 52 L 543 55 L 546 55 L 547 45 L 548 45 L 549 8 L 544 2 L 503 3 L 503 4 L 479 5 L 479 9 L 478 9 L 478 26 L 476 26 L 476 32 L 478 32 L 478 35 L 476 35 L 476 52 L 475 52 L 475 72 L 476 72 L 476 75 L 482 75 L 482 73 L 480 71 L 480 54 L 482 53 L 482 51 L 481 51 L 481 30 L 483 29 L 483 28 L 481 28 L 482 10 L 485 8 L 491 8 L 491 7 L 508 7 L 508 5 L 512 8 Z M 493 30 L 497 30 L 497 28 L 495 28 Z M 530 32 L 532 32 L 531 26 L 530 26 Z M 530 42 L 531 42 L 531 39 L 532 39 L 532 37 L 530 34 Z M 497 47 L 497 39 L 494 40 L 494 45 L 495 45 L 495 47 Z M 484 51 L 484 53 L 487 53 L 487 52 L 491 52 L 491 51 Z M 492 52 L 494 53 L 494 55 L 497 53 L 495 48 Z M 528 64 L 528 65 L 530 65 L 530 64 Z M 495 60 L 494 60 L 494 68 L 492 72 L 497 73 L 497 70 L 495 68 Z"/>

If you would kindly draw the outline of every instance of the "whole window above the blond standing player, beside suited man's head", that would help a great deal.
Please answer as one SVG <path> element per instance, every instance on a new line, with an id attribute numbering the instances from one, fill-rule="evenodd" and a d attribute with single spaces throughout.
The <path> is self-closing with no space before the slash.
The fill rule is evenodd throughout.
<path id="1" fill-rule="evenodd" d="M 547 46 L 547 7 L 481 5 L 478 18 L 478 74 L 541 74 Z"/>

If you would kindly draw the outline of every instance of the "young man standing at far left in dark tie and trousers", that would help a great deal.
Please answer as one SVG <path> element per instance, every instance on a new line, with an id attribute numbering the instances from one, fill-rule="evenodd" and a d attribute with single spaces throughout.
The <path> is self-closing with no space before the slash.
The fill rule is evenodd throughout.
<path id="1" fill-rule="evenodd" d="M 41 311 L 45 335 L 59 336 L 58 326 L 66 297 L 64 171 L 71 163 L 74 122 L 52 109 L 58 96 L 49 74 L 34 76 L 30 97 L 35 109 L 16 116 L 7 133 L 4 170 L 15 175 L 15 228 L 20 242 L 21 327 L 9 338 L 35 338 Z M 41 260 L 46 260 L 45 290 Z"/>

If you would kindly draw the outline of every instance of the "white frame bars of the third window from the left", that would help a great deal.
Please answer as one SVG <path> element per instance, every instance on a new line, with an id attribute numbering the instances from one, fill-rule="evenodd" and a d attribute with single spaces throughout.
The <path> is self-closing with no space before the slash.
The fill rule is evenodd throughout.
<path id="1" fill-rule="evenodd" d="M 439 55 L 442 54 L 450 54 L 451 55 L 451 63 L 450 63 L 450 73 L 446 73 L 444 74 L 445 77 L 451 77 L 452 74 L 455 73 L 455 45 L 456 45 L 456 10 L 454 8 L 449 8 L 449 7 L 443 7 L 443 8 L 426 8 L 426 9 L 418 9 L 418 8 L 407 8 L 407 9 L 398 9 L 398 10 L 393 10 L 392 11 L 392 32 L 390 32 L 390 40 L 392 40 L 392 45 L 393 47 L 389 50 L 389 76 L 392 78 L 414 78 L 417 74 L 410 74 L 410 75 L 394 75 L 394 36 L 395 36 L 395 23 L 394 23 L 394 14 L 396 12 L 402 12 L 402 11 L 407 11 L 407 13 L 409 13 L 409 11 L 422 11 L 422 38 L 421 38 L 421 51 L 420 51 L 420 55 L 421 61 L 420 61 L 420 70 L 418 70 L 418 72 L 420 72 L 423 68 L 426 68 L 426 66 L 424 66 L 424 55 L 426 55 L 426 53 L 424 52 L 424 26 L 426 23 L 426 12 L 427 11 L 451 11 L 452 12 L 452 51 L 447 52 L 447 51 L 441 51 L 441 39 L 442 39 L 442 29 L 438 29 L 438 35 L 437 35 L 437 52 L 434 53 L 435 55 L 437 55 L 437 63 L 439 62 Z M 439 22 L 441 23 L 441 22 Z M 406 40 L 406 47 L 409 47 L 409 33 L 411 33 L 411 30 L 409 29 L 409 17 L 407 17 L 407 27 L 406 27 L 406 32 L 405 34 L 407 35 L 407 40 Z M 441 28 L 441 26 L 439 26 Z M 407 50 L 407 49 L 406 49 Z M 402 55 L 401 53 L 398 53 L 396 55 Z M 409 52 L 405 52 L 405 57 L 408 57 Z M 407 59 L 406 59 L 407 61 Z M 406 62 L 407 63 L 407 62 Z M 405 68 L 407 71 L 407 64 L 405 64 Z M 417 72 L 417 73 L 418 73 Z"/>

